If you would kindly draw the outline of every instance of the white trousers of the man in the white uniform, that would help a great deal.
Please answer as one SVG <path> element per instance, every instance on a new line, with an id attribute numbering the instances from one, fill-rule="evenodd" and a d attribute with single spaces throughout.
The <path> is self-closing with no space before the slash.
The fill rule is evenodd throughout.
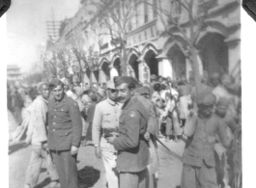
<path id="1" fill-rule="evenodd" d="M 116 170 L 116 153 L 108 150 L 101 150 L 105 175 L 108 187 L 118 188 L 118 172 Z"/>

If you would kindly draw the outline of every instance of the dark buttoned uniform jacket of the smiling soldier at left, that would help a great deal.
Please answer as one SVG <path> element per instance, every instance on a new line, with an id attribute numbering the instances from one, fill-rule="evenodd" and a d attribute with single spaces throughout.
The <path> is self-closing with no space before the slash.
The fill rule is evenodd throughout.
<path id="1" fill-rule="evenodd" d="M 48 102 L 48 148 L 53 150 L 79 147 L 82 136 L 82 121 L 77 102 L 64 95 L 59 102 Z"/>

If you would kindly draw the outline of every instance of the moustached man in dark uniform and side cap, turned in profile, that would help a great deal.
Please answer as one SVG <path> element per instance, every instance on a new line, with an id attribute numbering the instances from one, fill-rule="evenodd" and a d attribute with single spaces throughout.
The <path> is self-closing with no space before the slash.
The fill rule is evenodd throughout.
<path id="1" fill-rule="evenodd" d="M 119 101 L 124 105 L 119 120 L 119 136 L 108 137 L 107 141 L 118 150 L 120 188 L 146 187 L 145 173 L 150 152 L 144 134 L 149 115 L 138 98 L 132 97 L 135 84 L 130 77 L 119 77 L 115 86 L 119 91 Z"/>

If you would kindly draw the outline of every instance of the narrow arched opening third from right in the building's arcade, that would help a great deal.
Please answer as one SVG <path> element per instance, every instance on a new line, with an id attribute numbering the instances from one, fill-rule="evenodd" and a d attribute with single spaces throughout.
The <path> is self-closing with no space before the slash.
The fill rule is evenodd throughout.
<path id="1" fill-rule="evenodd" d="M 158 76 L 158 61 L 156 59 L 156 53 L 153 50 L 149 50 L 145 54 L 144 60 L 150 68 L 151 74 Z"/>

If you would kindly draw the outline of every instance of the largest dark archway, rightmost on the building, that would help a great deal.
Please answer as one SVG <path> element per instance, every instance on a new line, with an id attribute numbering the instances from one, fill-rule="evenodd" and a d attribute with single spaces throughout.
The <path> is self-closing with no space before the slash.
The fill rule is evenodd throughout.
<path id="1" fill-rule="evenodd" d="M 203 69 L 209 75 L 213 72 L 223 73 L 228 70 L 228 46 L 224 39 L 220 34 L 210 33 L 198 43 Z"/>

